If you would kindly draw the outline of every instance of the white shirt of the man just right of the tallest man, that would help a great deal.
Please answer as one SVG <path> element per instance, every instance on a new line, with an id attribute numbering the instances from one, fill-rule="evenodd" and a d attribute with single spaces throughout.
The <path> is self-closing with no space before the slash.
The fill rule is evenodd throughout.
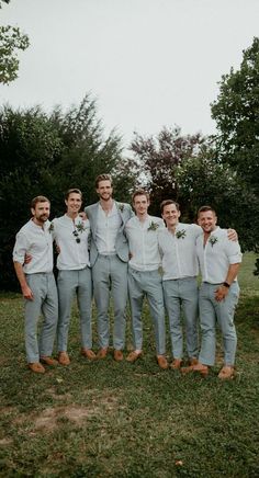
<path id="1" fill-rule="evenodd" d="M 155 271 L 161 265 L 158 231 L 164 228 L 160 217 L 147 216 L 145 221 L 140 221 L 135 216 L 127 221 L 125 234 L 130 246 L 131 268 L 137 271 Z"/>

